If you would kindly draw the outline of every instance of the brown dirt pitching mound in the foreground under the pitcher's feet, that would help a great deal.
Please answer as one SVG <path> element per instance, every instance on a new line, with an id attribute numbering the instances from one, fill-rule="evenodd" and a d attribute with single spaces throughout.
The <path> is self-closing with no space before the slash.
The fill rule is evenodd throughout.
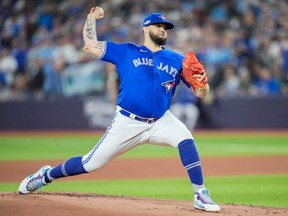
<path id="1" fill-rule="evenodd" d="M 79 193 L 36 193 L 19 195 L 1 193 L 0 215 L 49 216 L 259 216 L 288 215 L 287 209 L 244 205 L 220 205 L 220 213 L 207 213 L 193 208 L 191 201 L 107 196 Z"/>

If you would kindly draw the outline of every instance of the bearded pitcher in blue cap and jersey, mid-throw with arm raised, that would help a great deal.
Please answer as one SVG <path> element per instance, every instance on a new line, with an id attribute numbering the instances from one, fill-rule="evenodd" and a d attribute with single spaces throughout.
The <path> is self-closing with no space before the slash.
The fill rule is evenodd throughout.
<path id="1" fill-rule="evenodd" d="M 144 43 L 141 46 L 98 41 L 96 20 L 103 17 L 101 7 L 90 10 L 83 28 L 83 49 L 98 60 L 116 65 L 120 85 L 111 124 L 90 152 L 72 157 L 53 168 L 43 166 L 21 182 L 19 193 L 31 193 L 55 179 L 98 170 L 132 148 L 150 143 L 178 149 L 194 189 L 196 209 L 220 211 L 204 186 L 191 132 L 169 111 L 180 82 L 191 89 L 191 94 L 198 97 L 207 94 L 208 76 L 203 65 L 193 52 L 183 56 L 164 47 L 168 30 L 174 25 L 163 14 L 153 13 L 144 19 Z"/>

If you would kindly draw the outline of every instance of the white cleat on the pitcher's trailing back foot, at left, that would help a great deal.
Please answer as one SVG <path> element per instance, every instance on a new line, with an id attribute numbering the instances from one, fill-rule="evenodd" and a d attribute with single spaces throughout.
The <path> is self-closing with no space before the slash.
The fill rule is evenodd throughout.
<path id="1" fill-rule="evenodd" d="M 39 190 L 42 186 L 47 185 L 44 180 L 44 174 L 52 169 L 51 166 L 43 166 L 36 173 L 26 177 L 19 185 L 19 194 L 32 193 L 35 190 Z"/>

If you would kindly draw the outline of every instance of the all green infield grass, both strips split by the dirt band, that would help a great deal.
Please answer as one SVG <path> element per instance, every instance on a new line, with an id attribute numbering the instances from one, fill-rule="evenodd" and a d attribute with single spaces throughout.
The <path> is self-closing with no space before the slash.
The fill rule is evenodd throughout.
<path id="1" fill-rule="evenodd" d="M 200 156 L 287 155 L 288 133 L 200 133 L 194 134 Z M 66 160 L 89 152 L 100 139 L 97 135 L 0 136 L 0 161 Z M 178 157 L 169 147 L 142 145 L 120 158 Z M 19 183 L 0 184 L 0 192 L 15 192 Z M 286 175 L 206 177 L 205 184 L 219 203 L 288 208 Z M 98 193 L 192 200 L 188 178 L 145 180 L 55 181 L 43 191 Z M 191 203 L 192 205 L 192 203 Z"/>

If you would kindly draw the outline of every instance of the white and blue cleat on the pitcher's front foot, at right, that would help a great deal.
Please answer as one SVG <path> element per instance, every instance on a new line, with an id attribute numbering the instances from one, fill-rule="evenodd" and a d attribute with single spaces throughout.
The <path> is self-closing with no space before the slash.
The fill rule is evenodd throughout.
<path id="1" fill-rule="evenodd" d="M 209 211 L 219 212 L 220 206 L 217 205 L 209 196 L 207 189 L 200 189 L 194 194 L 194 208 Z"/>

